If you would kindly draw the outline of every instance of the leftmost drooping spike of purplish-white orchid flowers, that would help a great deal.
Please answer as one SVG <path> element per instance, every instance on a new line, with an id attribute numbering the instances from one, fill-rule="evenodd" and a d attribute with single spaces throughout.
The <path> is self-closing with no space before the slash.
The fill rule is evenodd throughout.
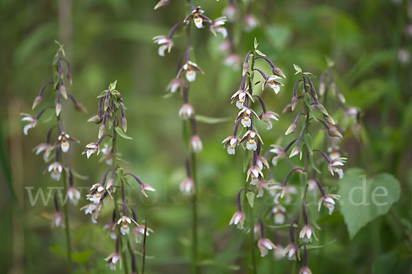
<path id="1" fill-rule="evenodd" d="M 54 80 L 43 84 L 38 96 L 34 99 L 32 109 L 34 110 L 38 106 L 46 103 L 43 101 L 45 98 L 49 97 L 52 97 L 52 100 L 50 100 L 52 105 L 43 107 L 43 109 L 41 109 L 36 115 L 22 113 L 21 115 L 23 118 L 21 121 L 27 122 L 27 124 L 23 127 L 23 134 L 28 135 L 29 130 L 34 127 L 38 127 L 40 119 L 43 118 L 43 114 L 45 114 L 47 110 L 55 111 L 56 119 L 53 119 L 52 121 L 56 121 L 56 123 L 49 127 L 47 133 L 45 134 L 45 142 L 38 144 L 34 147 L 33 151 L 36 155 L 43 153 L 43 160 L 47 164 L 45 173 L 49 173 L 50 177 L 52 177 L 55 181 L 60 181 L 60 179 L 63 178 L 62 186 L 64 189 L 64 195 L 68 197 L 68 200 L 71 203 L 76 205 L 78 199 L 80 198 L 80 192 L 74 186 L 71 165 L 67 163 L 63 164 L 63 154 L 69 151 L 71 142 L 79 141 L 76 138 L 73 138 L 71 134 L 68 134 L 65 130 L 65 125 L 62 119 L 62 100 L 70 99 L 70 101 L 73 102 L 74 108 L 78 111 L 85 112 L 85 109 L 66 88 L 66 82 L 71 84 L 72 81 L 70 63 L 67 59 L 65 59 L 65 51 L 62 45 L 58 42 L 56 43 L 58 44 L 58 50 L 56 55 L 54 55 L 52 62 Z M 50 91 L 50 95 L 46 96 L 47 90 Z M 49 103 L 49 100 L 47 100 L 47 103 Z M 67 179 L 69 179 L 68 183 Z M 65 218 L 68 219 L 69 216 L 65 216 L 63 212 L 60 212 L 56 195 L 54 197 L 54 204 L 56 213 L 53 218 L 53 226 L 65 227 Z M 66 204 L 64 205 L 64 208 L 66 209 Z M 66 228 L 68 229 L 67 226 Z"/>

